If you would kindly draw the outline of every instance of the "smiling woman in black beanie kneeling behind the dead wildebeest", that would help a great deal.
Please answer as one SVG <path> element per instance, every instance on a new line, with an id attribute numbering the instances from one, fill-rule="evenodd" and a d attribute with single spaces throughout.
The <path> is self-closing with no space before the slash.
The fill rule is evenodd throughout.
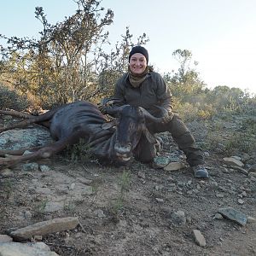
<path id="1" fill-rule="evenodd" d="M 148 50 L 143 46 L 137 45 L 131 49 L 128 73 L 117 82 L 114 97 L 122 100 L 121 105 L 141 106 L 154 116 L 161 116 L 163 112 L 169 113 L 170 118 L 162 124 L 148 123 L 148 130 L 153 134 L 169 131 L 178 148 L 186 155 L 195 177 L 208 177 L 208 172 L 203 166 L 204 154 L 201 148 L 195 147 L 195 139 L 183 121 L 176 113 L 172 113 L 172 94 L 160 74 L 148 67 Z M 142 145 L 141 154 L 145 154 L 144 147 L 145 145 Z"/>

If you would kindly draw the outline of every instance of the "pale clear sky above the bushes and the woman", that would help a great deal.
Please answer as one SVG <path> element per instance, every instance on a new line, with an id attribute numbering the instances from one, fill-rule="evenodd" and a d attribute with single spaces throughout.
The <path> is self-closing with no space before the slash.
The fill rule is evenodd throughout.
<path id="1" fill-rule="evenodd" d="M 34 17 L 37 6 L 51 24 L 77 9 L 73 0 L 2 1 L 0 34 L 37 38 L 43 29 Z M 176 71 L 172 52 L 189 49 L 208 88 L 228 85 L 256 94 L 255 0 L 102 0 L 101 6 L 113 10 L 113 48 L 129 26 L 134 38 L 147 34 L 149 64 L 159 73 Z"/>

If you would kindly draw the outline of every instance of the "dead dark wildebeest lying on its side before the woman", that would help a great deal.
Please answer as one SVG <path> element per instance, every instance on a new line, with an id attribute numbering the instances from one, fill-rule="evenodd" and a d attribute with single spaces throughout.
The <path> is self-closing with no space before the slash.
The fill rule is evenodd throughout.
<path id="1" fill-rule="evenodd" d="M 55 143 L 44 147 L 0 150 L 0 166 L 15 166 L 22 161 L 49 158 L 68 145 L 78 143 L 80 138 L 83 138 L 90 148 L 90 153 L 99 160 L 123 163 L 130 160 L 132 155 L 142 162 L 153 160 L 159 142 L 148 131 L 146 120 L 162 122 L 166 117 L 156 118 L 141 107 L 111 107 L 113 105 L 109 105 L 109 101 L 108 99 L 104 102 L 105 109 L 107 113 L 116 117 L 110 122 L 96 105 L 84 101 L 68 103 L 39 116 L 14 110 L 0 110 L 0 114 L 24 119 L 10 127 L 0 128 L 0 132 L 38 124 L 48 127 L 51 137 L 55 139 Z M 146 151 L 150 152 L 147 156 L 141 154 L 142 137 L 143 141 L 147 142 L 147 147 L 149 145 L 151 148 L 149 151 L 147 148 Z M 26 150 L 31 153 L 23 154 Z"/>

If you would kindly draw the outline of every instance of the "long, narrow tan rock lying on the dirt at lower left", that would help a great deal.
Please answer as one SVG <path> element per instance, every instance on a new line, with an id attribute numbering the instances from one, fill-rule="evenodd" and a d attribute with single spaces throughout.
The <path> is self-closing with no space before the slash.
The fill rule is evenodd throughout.
<path id="1" fill-rule="evenodd" d="M 16 241 L 25 241 L 30 239 L 32 236 L 44 236 L 49 233 L 60 232 L 62 230 L 73 230 L 78 224 L 78 218 L 54 218 L 15 230 L 10 233 L 10 236 L 15 238 Z"/>

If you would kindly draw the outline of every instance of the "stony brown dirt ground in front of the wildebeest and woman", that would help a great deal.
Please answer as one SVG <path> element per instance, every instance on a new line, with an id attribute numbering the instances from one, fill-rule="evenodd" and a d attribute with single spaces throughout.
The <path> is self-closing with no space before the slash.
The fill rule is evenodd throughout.
<path id="1" fill-rule="evenodd" d="M 193 126 L 194 125 L 194 126 Z M 197 141 L 206 127 L 192 124 Z M 162 154 L 178 153 L 165 135 Z M 38 161 L 46 171 L 22 165 L 0 174 L 0 234 L 50 218 L 76 216 L 79 225 L 43 237 L 60 255 L 256 255 L 256 224 L 215 218 L 221 207 L 256 218 L 256 182 L 224 165 L 227 155 L 206 152 L 207 180 L 189 166 L 166 172 L 132 160 L 128 166 L 74 162 L 64 154 Z M 241 199 L 242 201 L 238 201 Z M 185 218 L 175 217 L 183 211 Z M 206 247 L 195 243 L 201 230 Z"/>

